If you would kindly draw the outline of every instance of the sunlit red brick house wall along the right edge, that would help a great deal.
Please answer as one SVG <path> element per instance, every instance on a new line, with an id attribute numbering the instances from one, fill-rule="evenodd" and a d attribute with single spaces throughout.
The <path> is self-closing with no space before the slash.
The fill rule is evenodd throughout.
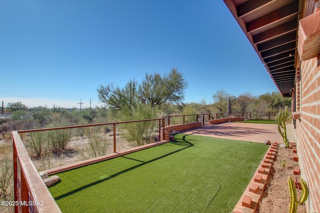
<path id="1" fill-rule="evenodd" d="M 296 120 L 296 143 L 301 176 L 309 188 L 309 211 L 320 213 L 320 66 L 318 58 L 302 61 L 301 81 L 296 84 L 301 94 L 301 119 Z M 299 97 L 300 96 L 300 97 Z M 298 104 L 298 100 L 296 101 Z M 296 106 L 298 109 L 298 106 Z M 298 110 L 297 110 L 298 111 Z"/>

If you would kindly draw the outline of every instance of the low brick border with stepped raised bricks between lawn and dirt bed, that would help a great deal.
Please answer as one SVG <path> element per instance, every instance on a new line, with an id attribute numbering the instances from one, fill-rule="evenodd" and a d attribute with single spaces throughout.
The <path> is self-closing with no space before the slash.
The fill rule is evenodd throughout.
<path id="1" fill-rule="evenodd" d="M 252 176 L 232 213 L 254 213 L 265 188 L 279 144 L 273 143 Z"/>

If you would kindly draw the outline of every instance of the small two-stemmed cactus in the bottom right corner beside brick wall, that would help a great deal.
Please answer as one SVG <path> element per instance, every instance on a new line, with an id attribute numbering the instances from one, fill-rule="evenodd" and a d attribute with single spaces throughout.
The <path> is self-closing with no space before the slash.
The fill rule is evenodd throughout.
<path id="1" fill-rule="evenodd" d="M 309 194 L 308 187 L 306 186 L 306 183 L 302 178 L 300 179 L 300 184 L 302 187 L 302 193 L 299 201 L 297 201 L 294 181 L 290 176 L 288 176 L 288 187 L 289 187 L 289 193 L 290 193 L 289 213 L 296 213 L 298 204 L 303 204 L 308 198 L 308 194 Z"/>

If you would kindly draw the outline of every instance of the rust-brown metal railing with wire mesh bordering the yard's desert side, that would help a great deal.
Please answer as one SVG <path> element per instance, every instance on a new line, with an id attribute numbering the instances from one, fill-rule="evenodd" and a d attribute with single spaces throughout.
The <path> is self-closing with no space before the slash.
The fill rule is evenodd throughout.
<path id="1" fill-rule="evenodd" d="M 232 117 L 273 119 L 276 114 L 233 112 Z M 14 201 L 17 204 L 14 206 L 14 211 L 16 213 L 60 212 L 37 174 L 39 171 L 161 141 L 164 139 L 165 126 L 191 122 L 201 122 L 202 125 L 206 125 L 211 119 L 223 117 L 225 113 L 171 115 L 140 121 L 14 131 L 12 132 L 13 182 Z M 65 143 L 59 144 L 59 141 Z M 68 161 L 70 158 L 73 161 Z"/>

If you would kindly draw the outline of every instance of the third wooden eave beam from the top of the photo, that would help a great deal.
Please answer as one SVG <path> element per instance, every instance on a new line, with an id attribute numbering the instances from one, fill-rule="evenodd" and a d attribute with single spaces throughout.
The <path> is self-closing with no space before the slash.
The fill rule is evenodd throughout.
<path id="1" fill-rule="evenodd" d="M 294 20 L 285 22 L 278 26 L 275 26 L 271 29 L 265 30 L 261 33 L 252 36 L 253 43 L 258 44 L 276 38 L 278 36 L 287 34 L 292 31 L 296 31 L 298 28 L 298 21 L 295 18 Z"/>

